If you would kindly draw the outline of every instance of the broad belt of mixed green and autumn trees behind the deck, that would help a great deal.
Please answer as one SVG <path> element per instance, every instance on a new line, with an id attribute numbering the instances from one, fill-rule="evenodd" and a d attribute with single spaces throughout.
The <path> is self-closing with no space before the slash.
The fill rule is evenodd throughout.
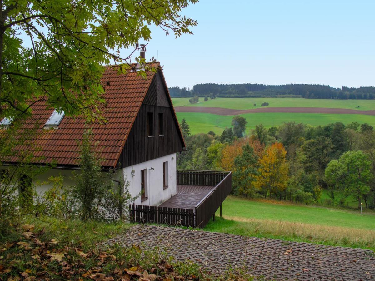
<path id="1" fill-rule="evenodd" d="M 327 205 L 344 206 L 348 199 L 358 208 L 361 203 L 375 208 L 372 126 L 290 122 L 266 129 L 260 124 L 245 135 L 246 124 L 244 117 L 235 116 L 221 135 L 191 135 L 182 120 L 187 151 L 178 156 L 177 168 L 232 171 L 237 196 L 314 204 L 325 190 Z"/>

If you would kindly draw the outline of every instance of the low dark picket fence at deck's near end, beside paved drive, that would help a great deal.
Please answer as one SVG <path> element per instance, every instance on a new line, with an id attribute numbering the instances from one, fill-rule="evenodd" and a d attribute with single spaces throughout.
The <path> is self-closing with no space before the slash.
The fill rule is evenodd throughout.
<path id="1" fill-rule="evenodd" d="M 195 227 L 194 209 L 129 205 L 130 221 Z"/>

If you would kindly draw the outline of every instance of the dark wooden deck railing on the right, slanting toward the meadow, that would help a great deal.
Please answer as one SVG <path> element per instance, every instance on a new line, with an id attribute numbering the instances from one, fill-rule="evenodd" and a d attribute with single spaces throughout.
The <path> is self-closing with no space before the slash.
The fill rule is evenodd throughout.
<path id="1" fill-rule="evenodd" d="M 226 196 L 232 190 L 232 172 L 226 176 L 195 206 L 195 225 L 203 228 L 206 226 L 216 210 L 221 206 Z"/>

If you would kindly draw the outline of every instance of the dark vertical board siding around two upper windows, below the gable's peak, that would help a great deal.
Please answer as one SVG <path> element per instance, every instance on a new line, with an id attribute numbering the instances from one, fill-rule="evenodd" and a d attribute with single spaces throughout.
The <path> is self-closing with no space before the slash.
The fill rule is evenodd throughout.
<path id="1" fill-rule="evenodd" d="M 154 136 L 147 136 L 147 113 L 153 112 Z M 164 135 L 157 132 L 157 116 L 164 115 Z M 163 106 L 141 106 L 129 137 L 121 152 L 118 166 L 128 167 L 144 161 L 182 151 L 182 143 L 173 120 L 171 109 Z"/>

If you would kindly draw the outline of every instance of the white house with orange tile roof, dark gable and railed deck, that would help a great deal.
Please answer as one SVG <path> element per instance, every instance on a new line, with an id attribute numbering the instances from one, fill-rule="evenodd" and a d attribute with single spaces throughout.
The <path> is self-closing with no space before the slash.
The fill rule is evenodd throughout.
<path id="1" fill-rule="evenodd" d="M 151 63 L 151 66 L 157 67 L 158 71 L 147 72 L 147 79 L 136 72 L 118 75 L 117 67 L 105 67 L 102 83 L 107 106 L 103 117 L 108 122 L 91 126 L 99 157 L 103 159 L 102 170 L 115 170 L 115 180 L 127 178 L 132 196 L 141 193 L 134 202 L 133 212 L 136 206 L 142 205 L 155 209 L 169 199 L 174 203 L 169 202 L 165 208 L 174 206 L 194 210 L 195 203 L 214 190 L 223 178 L 228 178 L 228 173 L 177 171 L 177 154 L 186 149 L 185 143 L 160 64 Z M 36 164 L 55 163 L 54 168 L 39 180 L 63 175 L 65 184 L 72 185 L 71 175 L 72 170 L 78 169 L 79 142 L 83 138 L 85 120 L 47 109 L 45 103 L 40 102 L 33 106 L 33 118 L 26 121 L 28 126 L 37 122 L 40 124 L 39 133 L 34 143 L 40 149 L 34 155 L 43 161 Z M 1 120 L 3 126 L 9 123 L 11 120 L 7 118 Z M 8 164 L 17 164 L 17 159 Z M 228 195 L 231 181 L 230 187 L 228 184 L 227 179 L 220 202 L 216 200 L 211 204 L 211 216 Z M 195 191 L 194 188 L 187 191 L 183 185 L 194 186 Z M 37 191 L 40 193 L 48 188 L 49 185 L 45 184 Z M 194 197 L 195 193 L 198 195 Z M 181 200 L 186 201 L 189 197 L 194 197 L 195 201 L 190 200 L 190 205 L 181 204 Z M 197 215 L 195 210 L 193 213 Z"/>

